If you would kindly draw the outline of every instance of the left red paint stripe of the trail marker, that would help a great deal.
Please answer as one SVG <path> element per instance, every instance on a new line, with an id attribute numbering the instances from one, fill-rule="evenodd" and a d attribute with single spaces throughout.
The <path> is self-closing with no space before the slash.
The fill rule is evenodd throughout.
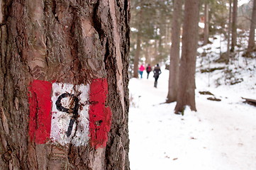
<path id="1" fill-rule="evenodd" d="M 30 120 L 28 135 L 30 141 L 43 144 L 50 139 L 52 84 L 48 81 L 34 80 L 28 87 Z"/>

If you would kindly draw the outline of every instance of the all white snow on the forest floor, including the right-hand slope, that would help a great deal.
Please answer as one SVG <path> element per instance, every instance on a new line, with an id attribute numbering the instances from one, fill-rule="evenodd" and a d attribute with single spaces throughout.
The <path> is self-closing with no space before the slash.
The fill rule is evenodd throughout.
<path id="1" fill-rule="evenodd" d="M 176 103 L 165 103 L 169 71 L 164 66 L 157 89 L 152 72 L 149 79 L 145 72 L 143 79 L 130 79 L 131 170 L 256 169 L 256 107 L 241 98 L 256 98 L 256 61 L 239 53 L 238 60 L 229 66 L 216 64 L 213 60 L 218 56 L 220 40 L 215 41 L 199 49 L 203 52 L 211 47 L 196 63 L 196 112 L 187 107 L 183 116 L 176 115 Z M 200 72 L 221 66 L 225 69 Z M 228 70 L 233 78 L 223 73 Z M 243 81 L 230 85 L 238 78 Z M 221 101 L 209 101 L 211 96 L 199 91 L 210 91 Z"/>

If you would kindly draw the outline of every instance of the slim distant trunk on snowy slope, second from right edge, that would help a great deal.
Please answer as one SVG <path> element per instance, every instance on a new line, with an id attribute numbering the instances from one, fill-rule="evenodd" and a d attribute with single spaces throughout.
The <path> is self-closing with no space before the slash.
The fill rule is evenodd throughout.
<path id="1" fill-rule="evenodd" d="M 238 33 L 236 31 L 237 28 L 237 18 L 238 18 L 238 0 L 233 0 L 233 15 L 232 15 L 232 40 L 231 40 L 231 48 L 230 52 L 235 50 L 236 39 Z"/>

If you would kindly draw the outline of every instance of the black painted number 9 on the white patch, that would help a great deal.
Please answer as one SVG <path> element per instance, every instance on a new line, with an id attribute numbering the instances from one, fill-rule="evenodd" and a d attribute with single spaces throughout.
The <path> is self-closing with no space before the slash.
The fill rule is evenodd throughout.
<path id="1" fill-rule="evenodd" d="M 67 97 L 69 98 L 69 107 L 74 106 L 73 108 L 65 108 L 62 106 L 62 103 L 61 103 L 62 98 L 67 98 Z M 74 122 L 75 120 L 77 120 L 77 117 L 78 117 L 79 99 L 77 98 L 77 96 L 74 96 L 74 94 L 65 93 L 60 95 L 57 98 L 57 101 L 55 104 L 58 111 L 62 111 L 65 113 L 72 113 L 72 118 L 70 119 L 69 127 L 67 128 L 67 132 L 66 132 L 67 137 L 69 137 L 71 135 Z"/>

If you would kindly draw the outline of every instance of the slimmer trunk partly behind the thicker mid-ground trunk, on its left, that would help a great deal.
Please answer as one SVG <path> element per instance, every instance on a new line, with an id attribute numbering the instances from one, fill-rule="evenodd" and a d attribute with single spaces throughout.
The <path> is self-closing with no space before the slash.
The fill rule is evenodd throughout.
<path id="1" fill-rule="evenodd" d="M 183 1 L 174 1 L 174 11 L 172 20 L 172 46 L 169 62 L 169 86 L 167 103 L 177 101 L 177 91 L 179 82 L 179 43 L 180 28 L 182 25 L 182 4 Z"/>

